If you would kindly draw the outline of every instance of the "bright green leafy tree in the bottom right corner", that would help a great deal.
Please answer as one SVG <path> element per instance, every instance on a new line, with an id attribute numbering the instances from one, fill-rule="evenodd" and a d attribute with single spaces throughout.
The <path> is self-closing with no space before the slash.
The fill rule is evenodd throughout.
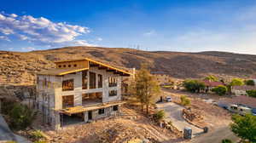
<path id="1" fill-rule="evenodd" d="M 249 140 L 256 142 L 256 116 L 247 114 L 242 117 L 240 115 L 233 115 L 230 124 L 230 129 L 242 140 Z"/>

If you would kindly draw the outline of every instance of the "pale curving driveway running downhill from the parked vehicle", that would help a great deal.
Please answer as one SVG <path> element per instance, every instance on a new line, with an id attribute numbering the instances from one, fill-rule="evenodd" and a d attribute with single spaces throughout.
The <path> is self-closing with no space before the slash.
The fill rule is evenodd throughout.
<path id="1" fill-rule="evenodd" d="M 172 121 L 172 124 L 178 129 L 183 131 L 185 127 L 192 129 L 193 136 L 201 134 L 203 129 L 197 128 L 194 125 L 187 123 L 182 117 L 183 106 L 179 106 L 173 102 L 159 103 L 156 105 L 159 109 L 166 112 L 166 121 Z"/>

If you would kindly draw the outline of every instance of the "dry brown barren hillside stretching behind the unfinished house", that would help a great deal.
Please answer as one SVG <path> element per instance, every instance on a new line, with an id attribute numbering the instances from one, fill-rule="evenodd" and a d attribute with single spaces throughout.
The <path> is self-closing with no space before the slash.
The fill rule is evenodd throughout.
<path id="1" fill-rule="evenodd" d="M 136 49 L 67 47 L 27 53 L 0 51 L 0 84 L 32 84 L 35 72 L 54 67 L 53 61 L 94 58 L 126 68 L 139 68 L 149 62 L 152 72 L 164 72 L 176 78 L 250 77 L 256 72 L 256 55 L 224 52 L 182 53 Z"/>

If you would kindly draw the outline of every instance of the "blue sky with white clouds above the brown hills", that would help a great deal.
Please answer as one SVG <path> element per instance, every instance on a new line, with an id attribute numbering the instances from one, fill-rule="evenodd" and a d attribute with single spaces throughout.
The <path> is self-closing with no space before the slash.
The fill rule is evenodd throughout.
<path id="1" fill-rule="evenodd" d="M 3 0 L 0 50 L 100 46 L 256 54 L 255 0 Z"/>

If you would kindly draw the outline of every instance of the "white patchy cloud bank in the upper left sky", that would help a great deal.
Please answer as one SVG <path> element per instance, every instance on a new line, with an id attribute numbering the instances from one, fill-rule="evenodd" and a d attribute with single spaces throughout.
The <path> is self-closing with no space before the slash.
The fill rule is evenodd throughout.
<path id="1" fill-rule="evenodd" d="M 20 40 L 27 40 L 40 45 L 51 47 L 83 44 L 86 41 L 76 38 L 89 33 L 84 26 L 69 25 L 65 22 L 55 23 L 44 17 L 34 18 L 31 15 L 0 14 L 0 34 L 15 36 Z M 10 38 L 10 37 L 9 37 Z"/>

